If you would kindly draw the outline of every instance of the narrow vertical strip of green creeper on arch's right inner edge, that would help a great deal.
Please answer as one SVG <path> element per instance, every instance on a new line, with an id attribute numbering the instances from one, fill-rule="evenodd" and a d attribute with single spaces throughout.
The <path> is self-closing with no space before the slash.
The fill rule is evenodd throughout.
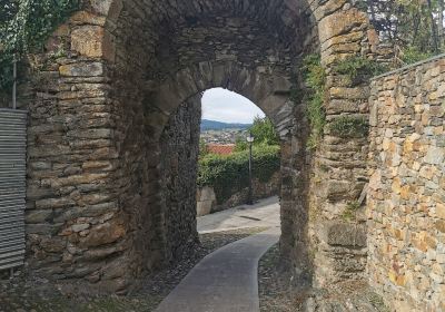
<path id="1" fill-rule="evenodd" d="M 326 125 L 324 107 L 326 71 L 318 55 L 309 55 L 300 67 L 307 92 L 307 115 L 310 123 L 310 136 L 307 143 L 309 149 L 317 147 Z"/>

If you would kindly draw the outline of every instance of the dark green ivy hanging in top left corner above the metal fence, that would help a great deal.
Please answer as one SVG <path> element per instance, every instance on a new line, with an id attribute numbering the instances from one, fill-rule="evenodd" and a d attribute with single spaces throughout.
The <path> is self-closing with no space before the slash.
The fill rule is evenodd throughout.
<path id="1" fill-rule="evenodd" d="M 0 0 L 0 90 L 12 84 L 12 61 L 43 50 L 44 41 L 80 0 Z"/>

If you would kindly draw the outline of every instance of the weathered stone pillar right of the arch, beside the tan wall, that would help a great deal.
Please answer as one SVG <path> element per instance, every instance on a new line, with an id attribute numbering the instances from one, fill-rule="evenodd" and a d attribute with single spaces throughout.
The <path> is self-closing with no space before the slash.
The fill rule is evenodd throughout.
<path id="1" fill-rule="evenodd" d="M 368 118 L 368 86 L 336 75 L 333 67 L 348 57 L 372 57 L 373 42 L 368 40 L 372 30 L 366 12 L 354 8 L 350 1 L 314 6 L 322 64 L 327 72 L 327 125 L 313 159 L 309 237 L 315 285 L 328 286 L 363 279 L 366 269 L 366 218 L 357 202 L 367 182 L 367 136 L 342 137 L 330 130 L 330 125 L 345 116 Z M 354 220 L 346 220 L 348 209 L 356 208 Z"/>

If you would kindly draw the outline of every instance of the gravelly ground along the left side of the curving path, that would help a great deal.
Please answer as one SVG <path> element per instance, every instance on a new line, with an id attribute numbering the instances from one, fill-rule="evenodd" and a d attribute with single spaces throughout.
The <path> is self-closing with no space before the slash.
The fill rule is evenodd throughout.
<path id="1" fill-rule="evenodd" d="M 201 245 L 169 267 L 148 276 L 142 287 L 126 296 L 71 298 L 48 281 L 26 282 L 0 276 L 0 312 L 150 312 L 206 255 L 235 241 L 263 232 L 265 227 L 202 234 Z M 180 311 L 177 311 L 180 312 Z M 269 311 L 271 312 L 271 311 Z"/>

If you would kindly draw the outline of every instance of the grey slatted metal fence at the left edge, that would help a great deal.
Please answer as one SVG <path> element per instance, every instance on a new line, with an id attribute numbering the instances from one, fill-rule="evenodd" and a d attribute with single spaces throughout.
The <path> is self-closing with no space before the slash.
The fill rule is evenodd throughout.
<path id="1" fill-rule="evenodd" d="M 0 270 L 24 261 L 27 111 L 0 108 Z"/>

